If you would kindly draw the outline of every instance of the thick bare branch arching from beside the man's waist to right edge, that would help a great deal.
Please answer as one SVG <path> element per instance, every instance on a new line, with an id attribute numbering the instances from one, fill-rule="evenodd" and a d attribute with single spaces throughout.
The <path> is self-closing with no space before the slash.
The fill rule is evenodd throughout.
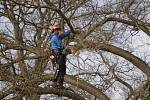
<path id="1" fill-rule="evenodd" d="M 79 44 L 80 46 L 80 44 Z M 80 46 L 81 47 L 81 46 Z M 111 52 L 113 54 L 116 54 L 118 56 L 123 57 L 124 59 L 130 61 L 133 65 L 135 65 L 137 68 L 139 68 L 143 73 L 147 75 L 148 78 L 150 78 L 150 67 L 148 64 L 146 64 L 142 59 L 136 57 L 129 51 L 123 50 L 119 47 L 110 45 L 110 44 L 104 44 L 104 43 L 94 43 L 92 41 L 84 40 L 82 41 L 82 47 L 86 49 L 92 49 L 92 50 L 104 50 Z"/>

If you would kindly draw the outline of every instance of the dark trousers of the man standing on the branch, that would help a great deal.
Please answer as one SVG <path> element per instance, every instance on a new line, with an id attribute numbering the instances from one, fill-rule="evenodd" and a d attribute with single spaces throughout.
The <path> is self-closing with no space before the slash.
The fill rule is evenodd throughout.
<path id="1" fill-rule="evenodd" d="M 63 85 L 64 76 L 66 74 L 66 55 L 62 53 L 62 50 L 54 49 L 52 50 L 54 55 L 54 62 L 56 65 L 56 71 L 54 74 L 53 82 L 57 82 L 59 85 Z"/>

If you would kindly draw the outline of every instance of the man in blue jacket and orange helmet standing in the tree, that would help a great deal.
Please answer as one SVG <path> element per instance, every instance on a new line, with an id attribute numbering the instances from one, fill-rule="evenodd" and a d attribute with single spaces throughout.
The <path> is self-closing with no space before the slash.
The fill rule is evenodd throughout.
<path id="1" fill-rule="evenodd" d="M 66 54 L 64 53 L 64 44 L 62 39 L 70 35 L 70 31 L 66 30 L 60 33 L 60 25 L 55 23 L 50 26 L 52 34 L 49 35 L 51 41 L 50 46 L 54 56 L 56 72 L 54 74 L 53 86 L 63 88 L 64 75 L 66 74 Z"/>

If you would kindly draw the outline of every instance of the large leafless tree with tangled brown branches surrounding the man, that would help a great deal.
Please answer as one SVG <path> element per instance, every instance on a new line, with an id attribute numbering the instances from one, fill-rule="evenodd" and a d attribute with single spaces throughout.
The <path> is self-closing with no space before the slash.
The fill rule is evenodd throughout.
<path id="1" fill-rule="evenodd" d="M 1 0 L 0 4 L 5 25 L 0 32 L 0 99 L 37 100 L 55 94 L 109 100 L 116 82 L 126 88 L 127 99 L 150 98 L 149 54 L 138 56 L 135 51 L 140 48 L 132 48 L 133 38 L 150 36 L 148 0 Z M 74 34 L 66 43 L 78 43 L 76 56 L 69 56 L 70 75 L 65 76 L 69 89 L 64 90 L 51 87 L 52 73 L 45 73 L 51 66 L 45 51 L 49 25 L 56 19 Z M 80 35 L 76 27 L 81 28 Z M 85 52 L 91 56 L 84 59 Z"/>

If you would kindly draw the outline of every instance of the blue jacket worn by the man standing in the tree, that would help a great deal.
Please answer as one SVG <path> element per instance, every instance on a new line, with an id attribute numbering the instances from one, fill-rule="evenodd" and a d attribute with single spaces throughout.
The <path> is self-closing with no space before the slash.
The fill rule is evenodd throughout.
<path id="1" fill-rule="evenodd" d="M 59 35 L 50 34 L 50 46 L 52 49 L 64 49 L 64 44 L 62 43 L 62 39 L 70 35 L 70 31 L 64 31 L 63 33 Z"/>

